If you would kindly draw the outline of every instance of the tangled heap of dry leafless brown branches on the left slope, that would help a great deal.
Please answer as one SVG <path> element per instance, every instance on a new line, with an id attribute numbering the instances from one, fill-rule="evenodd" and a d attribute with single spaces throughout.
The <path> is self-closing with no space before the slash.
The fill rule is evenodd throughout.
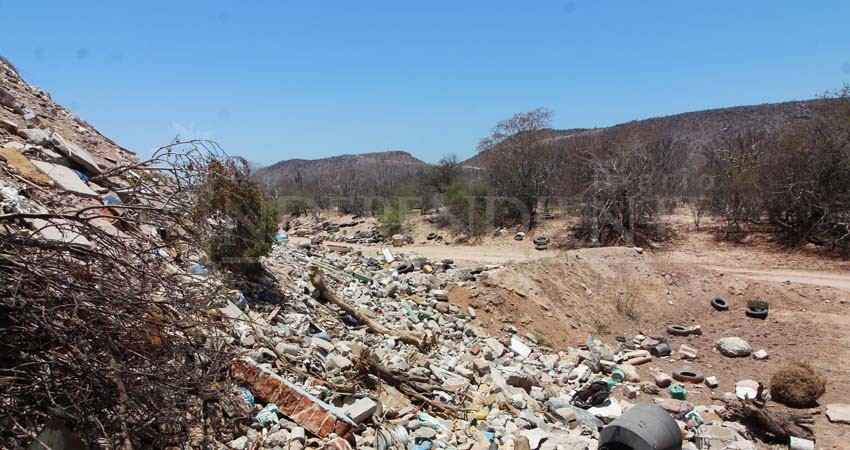
<path id="1" fill-rule="evenodd" d="M 29 445 L 51 419 L 90 448 L 212 434 L 205 402 L 230 357 L 207 311 L 226 289 L 178 267 L 208 232 L 193 189 L 221 158 L 174 144 L 97 177 L 120 205 L 0 216 L 13 230 L 0 235 L 0 447 Z M 64 239 L 39 235 L 51 229 Z"/>

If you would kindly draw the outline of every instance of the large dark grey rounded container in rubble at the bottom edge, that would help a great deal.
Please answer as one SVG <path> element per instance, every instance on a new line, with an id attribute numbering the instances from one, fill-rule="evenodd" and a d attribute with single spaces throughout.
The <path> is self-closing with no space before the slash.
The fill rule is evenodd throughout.
<path id="1" fill-rule="evenodd" d="M 682 435 L 660 406 L 639 403 L 599 433 L 599 450 L 680 450 Z"/>

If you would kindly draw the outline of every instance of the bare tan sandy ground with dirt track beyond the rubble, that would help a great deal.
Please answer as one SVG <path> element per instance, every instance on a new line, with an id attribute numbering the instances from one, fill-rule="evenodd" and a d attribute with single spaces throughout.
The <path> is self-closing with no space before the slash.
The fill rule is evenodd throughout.
<path id="1" fill-rule="evenodd" d="M 501 265 L 485 280 L 450 290 L 450 301 L 474 307 L 476 322 L 494 335 L 507 337 L 502 328 L 511 324 L 521 335 L 537 335 L 556 349 L 575 346 L 588 334 L 609 345 L 616 336 L 667 337 L 673 355 L 640 366 L 639 373 L 643 380 L 651 380 L 650 368 L 670 373 L 689 367 L 716 376 L 717 390 L 689 386 L 688 400 L 696 404 L 717 403 L 711 396 L 734 391 L 734 383 L 741 379 L 768 383 L 792 360 L 810 363 L 827 379 L 821 409 L 829 403 L 850 403 L 850 261 L 814 249 L 727 243 L 709 231 L 694 231 L 686 215 L 668 220 L 676 228 L 676 239 L 641 253 L 626 247 L 534 250 L 534 236 L 565 232 L 558 221 L 545 222 L 524 241 L 514 241 L 516 230 L 509 230 L 476 245 L 447 245 L 425 240 L 428 233 L 439 230 L 414 218 L 416 243 L 393 251 L 453 259 L 461 266 Z M 446 240 L 451 242 L 452 237 Z M 368 256 L 381 250 L 381 246 L 353 247 Z M 711 308 L 709 301 L 715 296 L 727 299 L 731 309 Z M 748 300 L 769 301 L 769 317 L 747 318 Z M 699 324 L 703 334 L 667 336 L 670 324 Z M 765 349 L 769 359 L 720 355 L 713 345 L 726 336 L 747 340 L 754 351 Z M 698 350 L 696 360 L 676 358 L 684 343 Z M 621 393 L 616 390 L 614 395 Z M 646 394 L 637 399 L 649 400 Z M 824 414 L 815 418 L 817 448 L 850 449 L 850 425 L 832 424 Z"/>

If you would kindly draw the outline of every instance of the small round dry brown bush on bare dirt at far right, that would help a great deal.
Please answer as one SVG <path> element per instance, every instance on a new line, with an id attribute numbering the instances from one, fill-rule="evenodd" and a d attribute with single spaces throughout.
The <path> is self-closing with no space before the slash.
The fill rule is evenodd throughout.
<path id="1" fill-rule="evenodd" d="M 817 403 L 826 392 L 826 382 L 803 362 L 786 364 L 770 378 L 771 397 L 788 406 L 806 407 Z"/>

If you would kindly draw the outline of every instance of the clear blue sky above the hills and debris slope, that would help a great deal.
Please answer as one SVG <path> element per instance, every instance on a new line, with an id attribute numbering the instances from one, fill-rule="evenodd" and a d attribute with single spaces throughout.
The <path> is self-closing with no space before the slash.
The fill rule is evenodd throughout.
<path id="1" fill-rule="evenodd" d="M 209 137 L 260 163 L 471 156 L 556 128 L 811 98 L 850 81 L 847 1 L 0 0 L 0 54 L 146 155 Z"/>

